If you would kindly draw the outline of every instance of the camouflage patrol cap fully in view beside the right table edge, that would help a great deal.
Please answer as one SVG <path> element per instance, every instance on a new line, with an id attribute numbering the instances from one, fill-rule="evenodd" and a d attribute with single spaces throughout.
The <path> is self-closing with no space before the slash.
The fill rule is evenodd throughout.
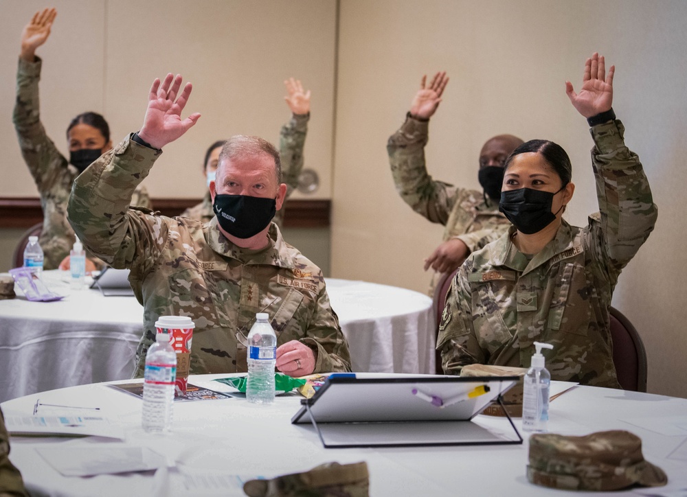
<path id="1" fill-rule="evenodd" d="M 530 437 L 531 483 L 567 490 L 618 490 L 631 485 L 660 487 L 668 477 L 642 456 L 642 440 L 625 430 L 566 437 Z"/>

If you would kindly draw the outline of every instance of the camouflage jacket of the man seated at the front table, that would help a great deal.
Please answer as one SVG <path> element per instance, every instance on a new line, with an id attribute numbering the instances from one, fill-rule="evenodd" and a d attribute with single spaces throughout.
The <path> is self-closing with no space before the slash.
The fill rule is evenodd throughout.
<path id="1" fill-rule="evenodd" d="M 161 151 L 130 138 L 106 152 L 74 182 L 69 222 L 84 244 L 129 281 L 144 305 L 144 336 L 137 350 L 140 375 L 155 321 L 190 316 L 196 327 L 191 373 L 246 371 L 247 336 L 256 312 L 267 312 L 278 345 L 311 347 L 315 372 L 349 371 L 350 355 L 332 310 L 322 271 L 287 244 L 272 224 L 269 246 L 241 249 L 209 223 L 128 209 L 128 198 Z"/>

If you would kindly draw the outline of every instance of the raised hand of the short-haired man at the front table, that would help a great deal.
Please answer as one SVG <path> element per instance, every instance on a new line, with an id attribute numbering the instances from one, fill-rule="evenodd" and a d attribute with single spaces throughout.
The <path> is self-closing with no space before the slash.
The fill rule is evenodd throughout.
<path id="1" fill-rule="evenodd" d="M 163 82 L 156 78 L 150 87 L 148 110 L 138 135 L 155 148 L 162 148 L 181 137 L 201 117 L 199 113 L 194 113 L 181 120 L 181 111 L 191 94 L 192 85 L 186 83 L 177 98 L 179 88 L 181 74 L 174 77 L 172 73 L 169 73 Z"/>

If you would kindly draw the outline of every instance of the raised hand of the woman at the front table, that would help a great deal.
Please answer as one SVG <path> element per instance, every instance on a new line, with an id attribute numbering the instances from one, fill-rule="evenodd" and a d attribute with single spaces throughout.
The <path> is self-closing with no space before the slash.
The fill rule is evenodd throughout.
<path id="1" fill-rule="evenodd" d="M 584 117 L 592 117 L 609 111 L 613 104 L 613 74 L 616 66 L 611 66 L 606 76 L 606 63 L 603 56 L 594 52 L 585 62 L 582 89 L 575 93 L 570 81 L 565 82 L 565 93 L 570 102 Z"/>

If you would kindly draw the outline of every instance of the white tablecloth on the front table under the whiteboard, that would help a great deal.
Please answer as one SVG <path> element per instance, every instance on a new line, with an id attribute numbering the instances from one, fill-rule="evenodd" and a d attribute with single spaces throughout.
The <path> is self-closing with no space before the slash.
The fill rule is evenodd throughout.
<path id="1" fill-rule="evenodd" d="M 210 379 L 221 376 L 192 376 L 190 381 L 218 389 L 223 386 Z M 38 397 L 30 395 L 5 402 L 2 404 L 5 416 L 31 415 Z M 39 491 L 38 495 L 160 495 L 153 490 L 159 482 L 150 472 L 66 478 L 36 452 L 41 447 L 70 446 L 146 446 L 189 470 L 265 477 L 308 470 L 328 461 L 366 461 L 370 470 L 370 495 L 375 497 L 569 495 L 528 483 L 528 440 L 524 434 L 525 442 L 515 446 L 325 449 L 311 426 L 291 425 L 290 419 L 300 407 L 300 397 L 292 396 L 278 397 L 271 406 L 254 406 L 242 399 L 177 403 L 172 434 L 153 437 L 144 434 L 140 427 L 142 402 L 107 386 L 76 386 L 41 393 L 40 399 L 70 406 L 99 406 L 100 415 L 111 417 L 124 427 L 126 441 L 98 437 L 13 438 L 10 459 L 19 467 L 30 489 Z M 622 429 L 638 435 L 642 439 L 644 458 L 668 474 L 668 487 L 653 489 L 655 495 L 687 488 L 686 417 L 685 399 L 592 386 L 578 386 L 550 404 L 552 432 L 587 435 L 599 430 Z M 476 419 L 508 430 L 505 418 L 477 416 Z M 515 426 L 520 429 L 519 419 L 515 419 Z M 682 431 L 679 426 L 683 427 Z M 637 494 L 625 491 L 594 495 Z M 671 495 L 684 495 L 684 490 Z"/>

